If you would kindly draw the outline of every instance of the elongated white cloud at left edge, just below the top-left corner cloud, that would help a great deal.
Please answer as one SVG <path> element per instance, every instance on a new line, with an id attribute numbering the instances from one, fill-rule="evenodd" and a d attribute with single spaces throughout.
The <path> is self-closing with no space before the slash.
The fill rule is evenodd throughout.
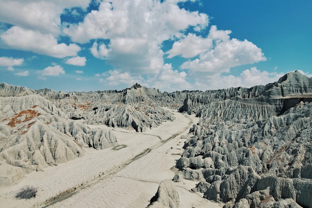
<path id="1" fill-rule="evenodd" d="M 35 53 L 64 58 L 66 56 L 76 56 L 80 47 L 76 44 L 67 46 L 65 43 L 57 43 L 51 34 L 42 34 L 39 31 L 22 29 L 13 26 L 0 36 L 11 48 L 33 51 Z"/>

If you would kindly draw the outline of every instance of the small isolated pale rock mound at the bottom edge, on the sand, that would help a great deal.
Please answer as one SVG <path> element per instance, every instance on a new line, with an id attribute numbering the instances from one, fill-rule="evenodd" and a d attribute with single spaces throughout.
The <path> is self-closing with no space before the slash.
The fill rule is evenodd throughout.
<path id="1" fill-rule="evenodd" d="M 149 208 L 178 208 L 179 207 L 179 195 L 173 187 L 170 180 L 163 180 L 159 184 L 158 190 L 155 196 L 150 200 Z"/>

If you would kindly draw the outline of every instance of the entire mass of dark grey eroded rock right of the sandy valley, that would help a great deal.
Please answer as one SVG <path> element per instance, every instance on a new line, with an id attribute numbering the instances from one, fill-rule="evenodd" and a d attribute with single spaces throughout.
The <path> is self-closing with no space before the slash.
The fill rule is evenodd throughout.
<path id="1" fill-rule="evenodd" d="M 312 78 L 188 94 L 196 113 L 176 167 L 224 207 L 312 207 Z M 216 95 L 218 94 L 218 95 Z"/>

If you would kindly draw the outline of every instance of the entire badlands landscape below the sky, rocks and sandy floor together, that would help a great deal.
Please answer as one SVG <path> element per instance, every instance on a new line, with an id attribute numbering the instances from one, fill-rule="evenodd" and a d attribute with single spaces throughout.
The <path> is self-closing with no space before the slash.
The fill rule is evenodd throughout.
<path id="1" fill-rule="evenodd" d="M 205 92 L 1 83 L 1 207 L 312 207 L 311 101 L 298 71 Z"/>

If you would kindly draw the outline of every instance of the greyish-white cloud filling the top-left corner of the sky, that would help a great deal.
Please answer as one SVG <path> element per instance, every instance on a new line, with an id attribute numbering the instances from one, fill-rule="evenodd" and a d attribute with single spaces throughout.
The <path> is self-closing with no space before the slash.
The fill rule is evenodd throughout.
<path id="1" fill-rule="evenodd" d="M 90 0 L 0 0 L 0 22 L 56 35 L 61 32 L 60 15 L 64 8 L 84 9 L 89 2 Z"/>

